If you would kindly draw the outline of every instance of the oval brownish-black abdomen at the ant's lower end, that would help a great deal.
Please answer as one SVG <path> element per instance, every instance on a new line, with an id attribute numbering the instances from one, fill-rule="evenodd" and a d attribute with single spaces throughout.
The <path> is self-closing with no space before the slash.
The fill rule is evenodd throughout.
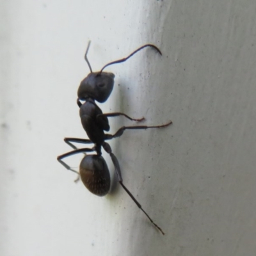
<path id="1" fill-rule="evenodd" d="M 80 177 L 84 186 L 97 196 L 108 194 L 110 174 L 108 165 L 102 156 L 87 155 L 80 163 Z"/>

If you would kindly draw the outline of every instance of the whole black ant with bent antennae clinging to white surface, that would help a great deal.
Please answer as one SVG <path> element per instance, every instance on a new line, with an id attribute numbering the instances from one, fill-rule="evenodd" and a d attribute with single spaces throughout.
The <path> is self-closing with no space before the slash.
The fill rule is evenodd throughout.
<path id="1" fill-rule="evenodd" d="M 152 47 L 155 49 L 159 54 L 161 51 L 152 44 L 146 44 L 138 48 L 136 51 L 132 52 L 126 58 L 121 60 L 112 61 L 106 64 L 100 71 L 92 72 L 92 67 L 88 61 L 87 53 L 90 47 L 90 42 L 88 43 L 88 47 L 85 52 L 84 59 L 90 68 L 90 74 L 86 78 L 81 81 L 81 84 L 78 88 L 78 99 L 77 105 L 80 108 L 80 117 L 81 122 L 83 125 L 86 134 L 89 137 L 89 140 L 80 139 L 80 138 L 65 138 L 64 141 L 70 145 L 74 150 L 58 156 L 58 161 L 63 164 L 67 170 L 77 173 L 81 180 L 83 181 L 84 186 L 89 189 L 93 194 L 97 196 L 104 196 L 108 194 L 110 189 L 110 175 L 108 166 L 106 161 L 101 156 L 101 147 L 110 155 L 113 164 L 115 166 L 116 175 L 118 178 L 118 182 L 120 185 L 125 189 L 129 196 L 131 196 L 132 200 L 135 202 L 136 205 L 145 213 L 147 218 L 155 225 L 155 227 L 164 234 L 163 230 L 152 221 L 152 219 L 148 216 L 147 212 L 143 210 L 139 202 L 134 198 L 131 192 L 124 186 L 123 179 L 121 175 L 121 169 L 118 163 L 116 156 L 113 154 L 111 147 L 106 140 L 111 140 L 116 137 L 120 137 L 123 132 L 127 129 L 148 129 L 148 128 L 161 128 L 166 127 L 172 124 L 172 121 L 168 122 L 168 124 L 164 125 L 155 125 L 155 126 L 145 126 L 145 125 L 138 125 L 138 126 L 123 126 L 115 134 L 106 134 L 104 131 L 109 131 L 109 124 L 108 124 L 108 117 L 112 116 L 125 116 L 129 120 L 140 122 L 144 120 L 144 118 L 135 119 L 131 118 L 130 116 L 125 115 L 124 113 L 102 113 L 102 110 L 97 106 L 95 100 L 102 103 L 105 102 L 109 95 L 111 94 L 114 86 L 114 77 L 113 73 L 103 72 L 104 68 L 108 67 L 109 65 L 113 65 L 116 63 L 122 63 L 129 58 L 136 52 L 140 51 L 145 47 Z M 162 55 L 162 54 L 161 54 Z M 84 100 L 85 102 L 82 104 L 80 100 Z M 93 148 L 80 148 L 77 149 L 75 145 L 72 143 L 84 143 L 90 144 L 94 143 Z M 85 152 L 96 152 L 93 155 L 86 155 Z M 68 164 L 64 163 L 61 159 L 72 156 L 74 154 L 84 153 L 86 156 L 83 157 L 80 166 L 79 172 L 73 170 L 68 166 Z M 79 178 L 78 178 L 79 179 Z M 77 180 L 78 180 L 77 179 Z"/>

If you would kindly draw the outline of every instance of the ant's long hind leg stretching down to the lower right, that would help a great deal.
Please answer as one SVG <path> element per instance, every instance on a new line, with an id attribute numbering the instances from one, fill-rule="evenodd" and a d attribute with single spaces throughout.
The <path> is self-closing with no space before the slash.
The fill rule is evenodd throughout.
<path id="1" fill-rule="evenodd" d="M 154 221 L 150 218 L 150 216 L 148 216 L 147 212 L 145 212 L 143 210 L 143 208 L 141 207 L 140 203 L 136 200 L 136 198 L 132 195 L 132 193 L 129 191 L 129 189 L 127 189 L 124 184 L 123 184 L 123 179 L 122 179 L 122 174 L 121 174 L 121 169 L 120 169 L 120 165 L 118 163 L 118 159 L 116 158 L 116 156 L 112 153 L 111 147 L 109 146 L 108 143 L 104 142 L 104 144 L 102 145 L 102 147 L 104 148 L 104 150 L 106 150 L 106 152 L 110 155 L 112 162 L 115 166 L 115 170 L 116 170 L 116 175 L 118 177 L 118 182 L 120 183 L 120 185 L 124 188 L 124 190 L 127 192 L 127 194 L 132 198 L 133 202 L 141 209 L 141 211 L 144 212 L 144 214 L 147 216 L 148 220 L 151 221 L 151 223 L 164 235 L 163 230 L 156 225 L 156 223 L 154 223 Z"/>

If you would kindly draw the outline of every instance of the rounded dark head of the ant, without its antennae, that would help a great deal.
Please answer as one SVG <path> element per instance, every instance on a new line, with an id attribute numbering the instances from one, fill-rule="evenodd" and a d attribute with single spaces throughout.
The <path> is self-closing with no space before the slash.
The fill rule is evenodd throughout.
<path id="1" fill-rule="evenodd" d="M 90 97 L 102 103 L 105 102 L 111 94 L 114 86 L 113 73 L 92 72 L 81 81 L 78 88 L 78 98 L 85 100 Z"/>

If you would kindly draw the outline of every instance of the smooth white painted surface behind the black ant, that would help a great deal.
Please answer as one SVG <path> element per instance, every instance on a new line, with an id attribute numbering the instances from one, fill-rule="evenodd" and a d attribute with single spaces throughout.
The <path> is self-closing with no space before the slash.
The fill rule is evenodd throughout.
<path id="1" fill-rule="evenodd" d="M 0 10 L 1 255 L 255 255 L 255 1 L 27 0 Z M 163 51 L 107 68 L 116 83 L 100 107 L 173 120 L 111 141 L 125 184 L 166 236 L 119 186 L 98 198 L 56 161 L 70 150 L 65 136 L 85 138 L 76 90 L 88 39 L 93 70 L 147 42 Z M 124 124 L 112 118 L 111 132 Z"/>

